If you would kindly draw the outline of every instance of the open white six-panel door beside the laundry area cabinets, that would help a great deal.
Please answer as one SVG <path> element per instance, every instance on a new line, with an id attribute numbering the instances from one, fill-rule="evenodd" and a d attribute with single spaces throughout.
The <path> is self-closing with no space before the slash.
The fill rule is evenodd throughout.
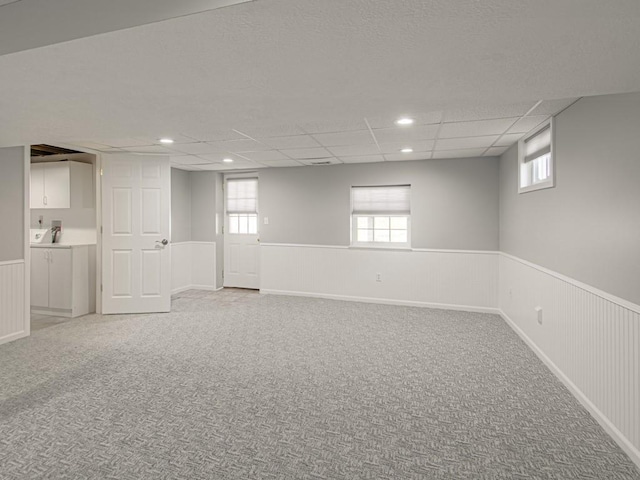
<path id="1" fill-rule="evenodd" d="M 102 169 L 102 311 L 168 312 L 169 158 L 104 155 Z"/>

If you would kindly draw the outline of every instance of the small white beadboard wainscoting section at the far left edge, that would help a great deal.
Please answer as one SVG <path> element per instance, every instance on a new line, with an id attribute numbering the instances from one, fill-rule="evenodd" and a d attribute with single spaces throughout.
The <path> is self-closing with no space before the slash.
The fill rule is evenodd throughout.
<path id="1" fill-rule="evenodd" d="M 0 344 L 26 337 L 24 260 L 0 262 Z"/>

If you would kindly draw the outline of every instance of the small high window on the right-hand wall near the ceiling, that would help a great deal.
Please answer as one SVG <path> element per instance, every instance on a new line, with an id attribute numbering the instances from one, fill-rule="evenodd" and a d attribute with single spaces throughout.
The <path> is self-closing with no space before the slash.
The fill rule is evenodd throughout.
<path id="1" fill-rule="evenodd" d="M 528 135 L 518 145 L 518 192 L 555 185 L 553 178 L 553 120 Z"/>

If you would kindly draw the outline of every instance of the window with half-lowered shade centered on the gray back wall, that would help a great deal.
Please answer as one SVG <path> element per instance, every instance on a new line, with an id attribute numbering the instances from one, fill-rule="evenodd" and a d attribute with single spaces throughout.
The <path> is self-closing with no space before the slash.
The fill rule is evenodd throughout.
<path id="1" fill-rule="evenodd" d="M 409 247 L 410 185 L 351 188 L 351 244 Z"/>

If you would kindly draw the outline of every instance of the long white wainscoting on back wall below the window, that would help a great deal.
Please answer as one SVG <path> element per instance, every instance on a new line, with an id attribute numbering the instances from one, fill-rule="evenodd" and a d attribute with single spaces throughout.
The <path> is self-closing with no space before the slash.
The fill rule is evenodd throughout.
<path id="1" fill-rule="evenodd" d="M 497 283 L 498 252 L 260 248 L 261 293 L 497 313 Z"/>

